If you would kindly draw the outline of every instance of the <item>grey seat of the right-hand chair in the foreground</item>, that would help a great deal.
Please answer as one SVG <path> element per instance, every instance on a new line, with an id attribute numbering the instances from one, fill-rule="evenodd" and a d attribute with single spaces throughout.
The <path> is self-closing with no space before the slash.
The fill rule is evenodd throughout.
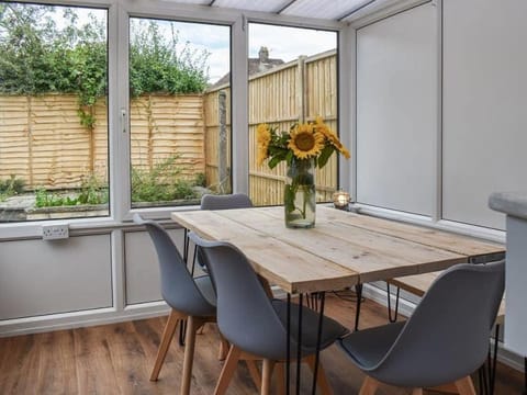
<path id="1" fill-rule="evenodd" d="M 338 343 L 358 366 L 368 371 L 384 358 L 405 324 L 400 321 L 355 331 Z"/>

